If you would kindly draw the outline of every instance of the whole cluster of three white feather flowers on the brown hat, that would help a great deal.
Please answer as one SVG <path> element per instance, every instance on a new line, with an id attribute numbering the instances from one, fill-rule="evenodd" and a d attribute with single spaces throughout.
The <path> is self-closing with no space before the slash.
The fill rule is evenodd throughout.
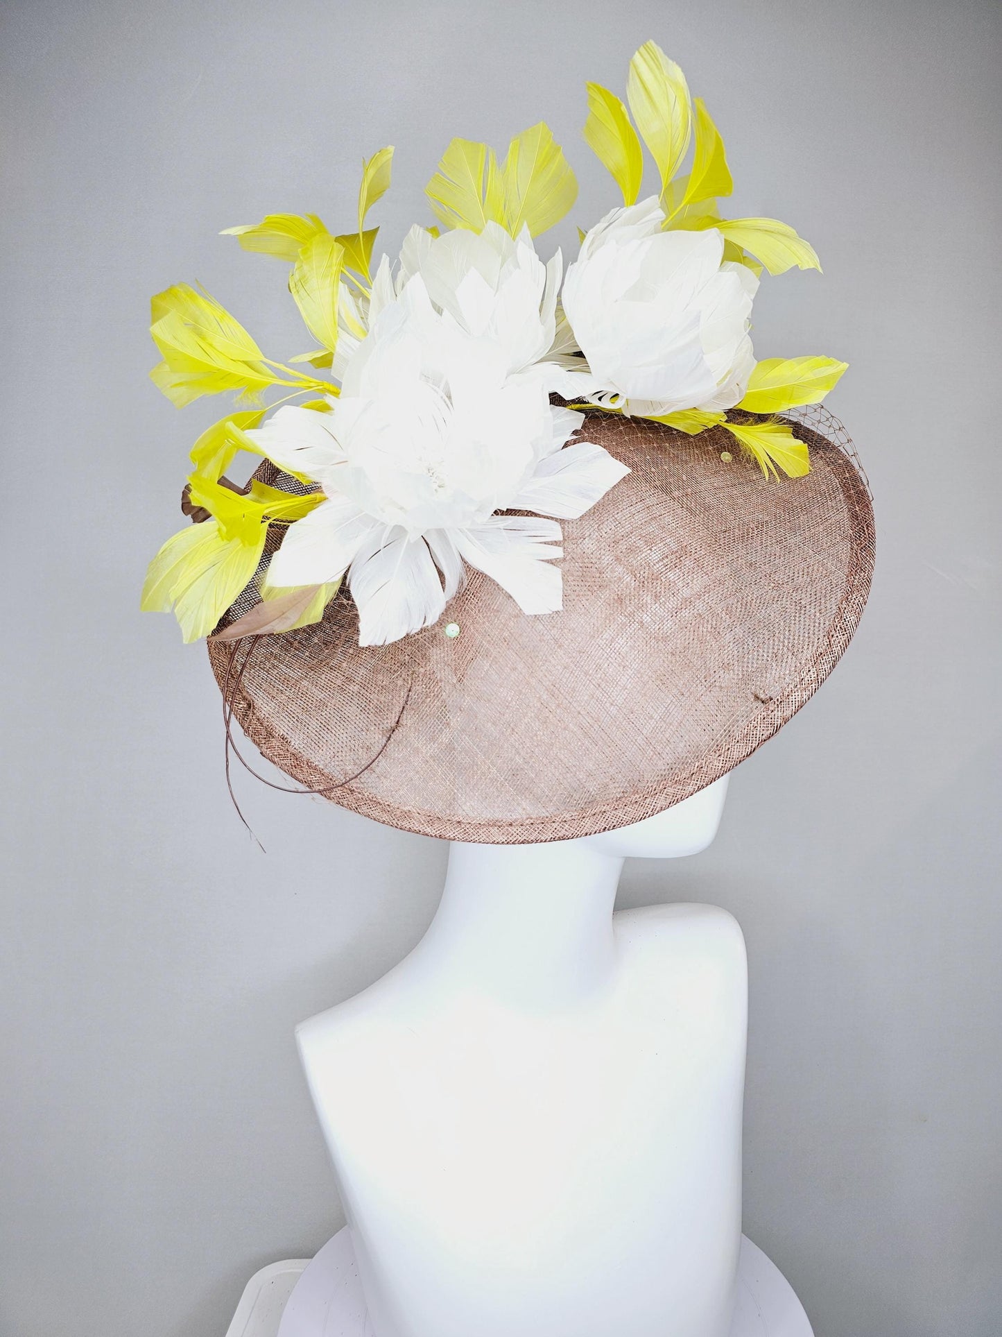
<path id="1" fill-rule="evenodd" d="M 434 623 L 465 567 L 525 612 L 558 610 L 557 520 L 629 471 L 572 441 L 584 414 L 550 392 L 644 414 L 725 409 L 755 365 L 758 279 L 721 262 L 720 233 L 663 221 L 651 199 L 592 229 L 564 282 L 565 322 L 560 251 L 544 265 L 526 230 L 411 229 L 367 310 L 350 313 L 355 334 L 342 328 L 329 412 L 281 408 L 250 433 L 326 495 L 286 533 L 270 584 L 346 574 L 363 646 Z M 500 513 L 513 509 L 533 515 Z"/>

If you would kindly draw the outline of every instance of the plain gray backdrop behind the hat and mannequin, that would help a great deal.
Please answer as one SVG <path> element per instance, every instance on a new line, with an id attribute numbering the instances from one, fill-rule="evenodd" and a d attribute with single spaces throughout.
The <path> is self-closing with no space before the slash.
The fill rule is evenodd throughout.
<path id="1" fill-rule="evenodd" d="M 998 7 L 426 3 L 4 7 L 0 1330 L 212 1337 L 341 1225 L 294 1023 L 393 965 L 445 846 L 222 775 L 204 652 L 139 615 L 219 401 L 147 381 L 148 294 L 200 279 L 303 346 L 283 269 L 219 229 L 350 226 L 397 146 L 389 247 L 454 134 L 545 118 L 581 197 L 584 80 L 647 37 L 725 136 L 740 214 L 826 274 L 767 281 L 756 352 L 826 352 L 878 576 L 824 691 L 736 774 L 720 837 L 628 865 L 751 959 L 748 1233 L 818 1337 L 989 1337 L 999 1185 Z M 549 239 L 546 239 L 549 241 Z"/>

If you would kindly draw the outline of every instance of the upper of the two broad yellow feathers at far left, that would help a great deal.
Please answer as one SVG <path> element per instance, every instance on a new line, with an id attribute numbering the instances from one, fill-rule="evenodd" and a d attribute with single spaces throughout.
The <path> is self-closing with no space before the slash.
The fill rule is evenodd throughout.
<path id="1" fill-rule="evenodd" d="M 275 382 L 258 345 L 208 293 L 175 283 L 151 308 L 150 333 L 163 361 L 150 376 L 178 408 L 222 390 L 255 396 Z"/>

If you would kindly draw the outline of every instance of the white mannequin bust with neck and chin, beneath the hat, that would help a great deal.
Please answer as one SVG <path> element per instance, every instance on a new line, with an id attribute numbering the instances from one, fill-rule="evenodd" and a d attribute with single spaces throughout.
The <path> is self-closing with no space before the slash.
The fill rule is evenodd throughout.
<path id="1" fill-rule="evenodd" d="M 747 971 L 705 905 L 613 916 L 727 778 L 548 845 L 453 844 L 414 951 L 298 1027 L 378 1337 L 727 1337 Z"/>

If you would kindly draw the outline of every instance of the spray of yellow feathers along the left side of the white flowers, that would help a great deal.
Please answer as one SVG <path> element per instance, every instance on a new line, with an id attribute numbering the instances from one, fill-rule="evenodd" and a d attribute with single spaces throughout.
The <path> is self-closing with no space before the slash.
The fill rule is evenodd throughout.
<path id="1" fill-rule="evenodd" d="M 244 250 L 293 265 L 289 290 L 319 348 L 291 357 L 290 364 L 329 368 L 338 344 L 338 317 L 346 306 L 343 285 L 350 281 L 367 297 L 377 229 L 366 230 L 365 219 L 389 189 L 391 162 L 393 148 L 381 148 L 362 163 L 354 233 L 334 237 L 317 214 L 269 214 L 261 223 L 226 229 L 224 235 L 236 237 Z M 350 313 L 346 324 L 353 328 Z M 338 393 L 331 381 L 265 357 L 239 321 L 208 293 L 187 283 L 154 297 L 151 334 L 163 358 L 151 377 L 178 408 L 224 390 L 234 390 L 243 402 L 261 404 L 263 392 L 274 385 L 291 389 L 286 398 Z M 302 406 L 323 412 L 327 401 Z M 261 604 L 251 610 L 253 616 L 247 614 L 220 632 L 226 639 L 319 622 L 338 591 L 337 583 L 275 590 L 267 584 L 267 571 L 259 570 L 269 527 L 295 523 L 322 500 L 318 493 L 291 496 L 261 483 L 240 492 L 220 481 L 240 451 L 261 456 L 246 432 L 263 416 L 263 408 L 228 413 L 195 441 L 187 495 L 192 509 L 208 512 L 208 519 L 172 535 L 150 563 L 140 607 L 172 608 L 184 640 L 210 635 L 251 582 L 257 582 Z"/>

